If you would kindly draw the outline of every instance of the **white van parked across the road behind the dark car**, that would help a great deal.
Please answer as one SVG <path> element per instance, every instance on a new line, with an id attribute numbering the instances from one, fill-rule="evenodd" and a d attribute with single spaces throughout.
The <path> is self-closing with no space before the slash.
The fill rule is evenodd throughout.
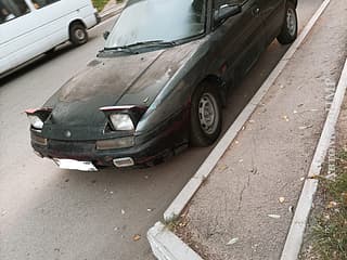
<path id="1" fill-rule="evenodd" d="M 67 40 L 86 43 L 98 22 L 91 0 L 0 0 L 0 77 Z"/>

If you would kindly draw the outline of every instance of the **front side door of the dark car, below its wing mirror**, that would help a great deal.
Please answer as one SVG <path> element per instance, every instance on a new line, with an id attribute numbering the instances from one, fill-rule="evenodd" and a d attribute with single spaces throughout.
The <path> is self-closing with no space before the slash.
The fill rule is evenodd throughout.
<path id="1" fill-rule="evenodd" d="M 224 4 L 240 4 L 242 11 L 221 24 L 214 24 L 213 44 L 217 66 L 224 80 L 243 77 L 266 47 L 259 0 L 215 0 L 214 15 Z M 213 18 L 214 20 L 214 18 Z"/>

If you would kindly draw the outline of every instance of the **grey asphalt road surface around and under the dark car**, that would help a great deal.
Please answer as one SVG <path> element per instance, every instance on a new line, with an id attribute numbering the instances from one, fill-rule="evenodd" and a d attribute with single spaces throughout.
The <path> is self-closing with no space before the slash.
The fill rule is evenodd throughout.
<path id="1" fill-rule="evenodd" d="M 321 0 L 301 0 L 303 27 Z M 191 148 L 144 170 L 57 169 L 29 145 L 26 108 L 39 107 L 92 60 L 114 20 L 93 28 L 90 41 L 60 48 L 53 56 L 0 81 L 0 259 L 154 259 L 145 233 L 194 174 L 209 148 Z M 230 126 L 261 86 L 286 47 L 273 42 L 231 93 L 224 110 Z M 133 240 L 136 235 L 141 239 Z"/>

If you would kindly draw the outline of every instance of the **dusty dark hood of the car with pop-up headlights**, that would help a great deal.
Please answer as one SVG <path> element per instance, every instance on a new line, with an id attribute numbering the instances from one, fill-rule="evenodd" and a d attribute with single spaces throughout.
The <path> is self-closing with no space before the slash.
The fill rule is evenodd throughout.
<path id="1" fill-rule="evenodd" d="M 194 41 L 170 49 L 90 62 L 44 104 L 53 108 L 50 130 L 54 125 L 104 128 L 106 118 L 100 110 L 103 106 L 150 106 L 198 47 L 200 41 Z"/>

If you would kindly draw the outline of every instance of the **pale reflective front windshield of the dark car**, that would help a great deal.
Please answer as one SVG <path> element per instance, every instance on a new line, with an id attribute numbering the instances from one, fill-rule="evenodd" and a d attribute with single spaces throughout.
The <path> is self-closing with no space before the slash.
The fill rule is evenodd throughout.
<path id="1" fill-rule="evenodd" d="M 165 43 L 204 34 L 205 0 L 129 0 L 105 49 Z"/>

